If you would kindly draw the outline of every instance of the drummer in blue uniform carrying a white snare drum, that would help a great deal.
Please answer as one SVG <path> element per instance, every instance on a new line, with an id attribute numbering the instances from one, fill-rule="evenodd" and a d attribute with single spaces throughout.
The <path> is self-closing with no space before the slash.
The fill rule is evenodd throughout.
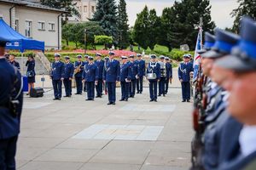
<path id="1" fill-rule="evenodd" d="M 160 64 L 156 61 L 156 55 L 150 56 L 148 63 L 147 79 L 149 82 L 150 102 L 157 102 L 157 82 L 160 81 Z"/>

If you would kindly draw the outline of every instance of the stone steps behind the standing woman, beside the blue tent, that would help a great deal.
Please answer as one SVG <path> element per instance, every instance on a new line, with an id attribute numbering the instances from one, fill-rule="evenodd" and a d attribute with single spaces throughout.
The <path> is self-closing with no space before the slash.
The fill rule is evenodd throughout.
<path id="1" fill-rule="evenodd" d="M 16 57 L 16 61 L 20 63 L 20 72 L 22 75 L 26 75 L 26 57 Z M 36 66 L 35 66 L 35 71 L 37 75 L 49 75 L 49 70 L 50 70 L 50 63 L 49 60 L 44 56 L 44 53 L 42 52 L 37 52 L 36 57 Z"/>

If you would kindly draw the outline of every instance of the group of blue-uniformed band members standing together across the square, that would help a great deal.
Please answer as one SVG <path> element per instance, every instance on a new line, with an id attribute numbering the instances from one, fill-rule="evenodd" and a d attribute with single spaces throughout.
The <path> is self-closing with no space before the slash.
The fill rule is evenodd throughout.
<path id="1" fill-rule="evenodd" d="M 64 82 L 64 97 L 72 96 L 72 81 L 75 77 L 76 93 L 87 92 L 87 99 L 94 100 L 108 94 L 108 105 L 116 103 L 116 85 L 120 83 L 121 99 L 128 101 L 137 94 L 143 93 L 143 79 L 149 82 L 150 102 L 157 102 L 158 96 L 166 96 L 169 83 L 172 82 L 172 63 L 168 57 L 151 55 L 148 66 L 142 59 L 142 54 L 133 54 L 114 59 L 114 52 L 109 51 L 109 56 L 102 59 L 102 54 L 96 58 L 89 55 L 77 56 L 75 63 L 70 62 L 70 57 L 65 56 L 65 63 L 61 62 L 61 54 L 55 54 L 55 62 L 51 65 L 50 77 L 54 88 L 54 100 L 61 100 L 61 87 Z M 84 88 L 83 88 L 84 86 Z M 96 93 L 95 93 L 96 92 Z M 158 93 L 157 93 L 158 92 Z"/>

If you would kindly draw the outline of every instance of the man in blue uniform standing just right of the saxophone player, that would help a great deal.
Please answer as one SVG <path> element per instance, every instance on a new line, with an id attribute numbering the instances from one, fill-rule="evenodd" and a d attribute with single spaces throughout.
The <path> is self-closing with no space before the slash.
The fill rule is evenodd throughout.
<path id="1" fill-rule="evenodd" d="M 89 63 L 84 65 L 83 82 L 86 84 L 87 101 L 95 98 L 95 85 L 98 83 L 99 69 L 93 61 L 93 57 L 89 57 Z"/>

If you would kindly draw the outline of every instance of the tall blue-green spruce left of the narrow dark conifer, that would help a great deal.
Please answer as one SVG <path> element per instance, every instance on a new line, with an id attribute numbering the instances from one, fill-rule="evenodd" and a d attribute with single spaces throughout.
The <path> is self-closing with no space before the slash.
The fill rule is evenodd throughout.
<path id="1" fill-rule="evenodd" d="M 92 21 L 98 21 L 105 35 L 113 37 L 117 44 L 117 7 L 114 0 L 99 0 Z"/>

